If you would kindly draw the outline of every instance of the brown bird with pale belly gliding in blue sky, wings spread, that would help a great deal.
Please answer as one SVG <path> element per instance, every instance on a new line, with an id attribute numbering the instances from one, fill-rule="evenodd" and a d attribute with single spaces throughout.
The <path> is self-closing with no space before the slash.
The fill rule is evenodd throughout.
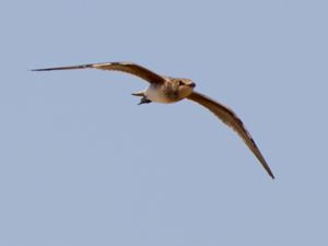
<path id="1" fill-rule="evenodd" d="M 231 127 L 245 142 L 253 154 L 258 159 L 262 167 L 266 169 L 268 175 L 274 179 L 274 175 L 270 169 L 267 161 L 261 154 L 259 148 L 255 143 L 253 137 L 245 128 L 239 117 L 225 105 L 196 92 L 196 83 L 190 79 L 185 78 L 173 78 L 166 75 L 160 75 L 145 67 L 133 62 L 101 62 L 101 63 L 87 63 L 68 67 L 54 67 L 33 69 L 32 71 L 54 71 L 54 70 L 72 70 L 72 69 L 101 69 L 101 70 L 113 70 L 126 72 L 149 82 L 149 86 L 145 90 L 132 93 L 134 96 L 140 96 L 141 104 L 149 104 L 152 102 L 171 104 L 181 99 L 189 99 L 208 110 L 213 113 L 225 125 Z"/>

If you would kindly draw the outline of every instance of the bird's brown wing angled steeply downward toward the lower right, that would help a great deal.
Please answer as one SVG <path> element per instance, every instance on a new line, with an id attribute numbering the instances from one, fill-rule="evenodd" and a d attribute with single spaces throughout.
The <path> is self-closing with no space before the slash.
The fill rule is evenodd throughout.
<path id="1" fill-rule="evenodd" d="M 268 172 L 268 174 L 274 178 L 273 173 L 271 172 L 268 163 L 266 162 L 265 157 L 262 156 L 261 152 L 257 148 L 255 141 L 253 140 L 249 132 L 244 127 L 243 121 L 233 113 L 231 109 L 225 107 L 222 104 L 216 103 L 215 101 L 200 94 L 197 92 L 192 92 L 191 95 L 187 97 L 188 99 L 195 101 L 196 103 L 199 103 L 200 105 L 208 108 L 210 112 L 212 112 L 215 116 L 218 116 L 224 124 L 230 126 L 232 129 L 234 129 L 239 137 L 245 141 L 249 150 L 255 154 L 255 156 L 260 161 L 265 169 Z"/>

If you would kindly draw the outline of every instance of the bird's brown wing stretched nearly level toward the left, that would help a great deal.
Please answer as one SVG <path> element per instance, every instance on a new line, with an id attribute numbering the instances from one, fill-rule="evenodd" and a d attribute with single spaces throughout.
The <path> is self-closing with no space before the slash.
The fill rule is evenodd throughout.
<path id="1" fill-rule="evenodd" d="M 52 70 L 70 70 L 70 69 L 86 69 L 86 68 L 127 72 L 136 77 L 139 77 L 143 80 L 147 80 L 150 83 L 157 84 L 157 83 L 163 83 L 165 81 L 165 78 L 152 72 L 151 70 L 130 62 L 90 63 L 90 65 L 78 65 L 78 66 L 69 66 L 69 67 L 33 69 L 32 71 L 52 71 Z"/>

